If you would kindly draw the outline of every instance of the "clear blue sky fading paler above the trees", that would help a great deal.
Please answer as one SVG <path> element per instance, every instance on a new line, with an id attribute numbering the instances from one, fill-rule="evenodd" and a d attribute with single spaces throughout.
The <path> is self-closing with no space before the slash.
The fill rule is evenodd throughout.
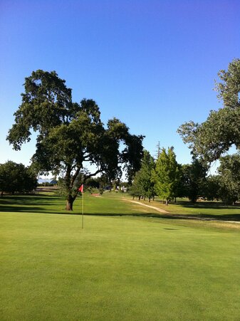
<path id="1" fill-rule="evenodd" d="M 155 154 L 176 130 L 221 106 L 214 79 L 240 57 L 239 0 L 0 0 L 0 163 L 29 164 L 34 142 L 14 152 L 6 135 L 24 78 L 56 70 L 73 100 L 93 98 L 103 122 L 118 117 Z"/>

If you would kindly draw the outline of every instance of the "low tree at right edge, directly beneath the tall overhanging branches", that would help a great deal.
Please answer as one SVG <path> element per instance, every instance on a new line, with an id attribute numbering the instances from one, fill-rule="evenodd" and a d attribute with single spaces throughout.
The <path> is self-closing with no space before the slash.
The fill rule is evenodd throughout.
<path id="1" fill-rule="evenodd" d="M 219 196 L 226 204 L 240 199 L 240 154 L 220 157 Z"/>

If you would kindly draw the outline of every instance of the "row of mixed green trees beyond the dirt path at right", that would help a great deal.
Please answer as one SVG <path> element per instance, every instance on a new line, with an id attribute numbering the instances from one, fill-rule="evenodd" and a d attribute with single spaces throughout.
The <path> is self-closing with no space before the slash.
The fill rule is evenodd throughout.
<path id="1" fill-rule="evenodd" d="M 192 202 L 199 198 L 221 199 L 226 204 L 240 199 L 239 154 L 221 157 L 217 175 L 207 176 L 208 169 L 197 158 L 192 164 L 178 164 L 173 147 L 163 148 L 156 160 L 145 151 L 130 194 L 149 201 L 157 195 L 166 204 L 177 197 L 188 197 Z"/>

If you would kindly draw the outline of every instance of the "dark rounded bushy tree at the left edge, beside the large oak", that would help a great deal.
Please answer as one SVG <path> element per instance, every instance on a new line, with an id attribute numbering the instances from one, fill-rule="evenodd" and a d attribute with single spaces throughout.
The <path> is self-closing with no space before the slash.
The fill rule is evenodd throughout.
<path id="1" fill-rule="evenodd" d="M 25 167 L 24 164 L 15 162 L 6 162 L 0 164 L 0 191 L 1 197 L 3 192 L 14 194 L 18 192 L 29 192 L 36 189 L 36 174 L 31 167 Z"/>

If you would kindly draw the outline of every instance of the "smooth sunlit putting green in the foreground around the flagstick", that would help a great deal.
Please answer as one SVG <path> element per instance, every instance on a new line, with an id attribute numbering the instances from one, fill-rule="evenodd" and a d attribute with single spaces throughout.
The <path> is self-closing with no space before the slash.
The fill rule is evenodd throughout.
<path id="1" fill-rule="evenodd" d="M 84 229 L 78 215 L 0 217 L 1 320 L 239 320 L 239 229 L 140 216 L 85 216 Z"/>

